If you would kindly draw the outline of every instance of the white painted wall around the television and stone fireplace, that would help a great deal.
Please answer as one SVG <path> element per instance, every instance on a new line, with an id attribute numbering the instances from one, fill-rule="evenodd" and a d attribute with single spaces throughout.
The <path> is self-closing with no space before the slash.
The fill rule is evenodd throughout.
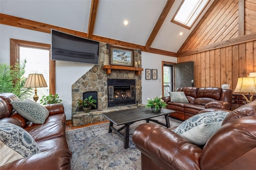
<path id="1" fill-rule="evenodd" d="M 10 38 L 38 43 L 51 43 L 51 35 L 39 31 L 32 31 L 18 27 L 0 24 L 0 63 L 10 64 Z M 142 103 L 146 104 L 147 98 L 162 95 L 162 61 L 177 63 L 176 57 L 169 57 L 142 51 Z M 86 73 L 92 64 L 70 63 L 56 61 L 56 94 L 62 99 L 66 119 L 71 119 L 72 84 Z M 145 69 L 157 69 L 157 80 L 146 80 Z"/>

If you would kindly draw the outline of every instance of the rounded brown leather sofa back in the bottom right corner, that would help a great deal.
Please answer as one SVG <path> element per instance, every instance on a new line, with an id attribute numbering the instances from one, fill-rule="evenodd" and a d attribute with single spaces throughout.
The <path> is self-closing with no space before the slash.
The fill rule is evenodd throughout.
<path id="1" fill-rule="evenodd" d="M 241 117 L 222 125 L 202 151 L 202 169 L 255 169 L 256 116 Z M 230 142 L 228 142 L 230 141 Z"/>

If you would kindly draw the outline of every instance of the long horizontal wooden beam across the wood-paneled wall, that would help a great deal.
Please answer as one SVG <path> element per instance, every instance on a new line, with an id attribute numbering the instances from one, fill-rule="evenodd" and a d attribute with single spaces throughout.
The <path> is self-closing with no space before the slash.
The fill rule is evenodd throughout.
<path id="1" fill-rule="evenodd" d="M 230 45 L 246 43 L 248 41 L 254 41 L 254 40 L 256 40 L 256 33 L 251 33 L 251 34 L 248 34 L 248 35 L 243 35 L 243 36 L 240 36 L 240 37 L 236 37 L 236 38 L 229 39 L 229 40 L 226 40 L 226 41 L 221 41 L 221 42 L 218 42 L 218 43 L 206 45 L 206 46 L 199 47 L 199 48 L 196 48 L 196 49 L 182 51 L 180 53 L 177 53 L 177 57 L 192 55 L 192 54 L 195 54 L 195 53 L 201 53 L 201 52 L 204 52 L 204 51 L 210 51 L 210 50 L 213 50 L 213 49 L 228 47 Z"/>

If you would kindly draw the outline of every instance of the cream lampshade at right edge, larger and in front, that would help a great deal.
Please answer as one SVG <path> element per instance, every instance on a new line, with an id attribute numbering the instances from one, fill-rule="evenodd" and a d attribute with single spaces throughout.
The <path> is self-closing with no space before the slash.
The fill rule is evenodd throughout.
<path id="1" fill-rule="evenodd" d="M 234 92 L 254 93 L 256 92 L 256 77 L 238 78 Z"/>

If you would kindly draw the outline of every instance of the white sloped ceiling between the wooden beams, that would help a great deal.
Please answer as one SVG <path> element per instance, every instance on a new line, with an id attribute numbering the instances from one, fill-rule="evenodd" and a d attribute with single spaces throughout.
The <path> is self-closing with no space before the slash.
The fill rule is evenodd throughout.
<path id="1" fill-rule="evenodd" d="M 93 34 L 144 46 L 166 2 L 100 0 Z M 170 22 L 181 2 L 175 0 L 151 47 L 176 53 L 200 21 L 203 15 L 190 30 Z M 0 12 L 3 14 L 85 33 L 88 31 L 90 8 L 91 0 L 0 0 Z M 127 26 L 123 25 L 124 20 L 129 21 Z M 180 32 L 183 32 L 182 36 Z"/>

